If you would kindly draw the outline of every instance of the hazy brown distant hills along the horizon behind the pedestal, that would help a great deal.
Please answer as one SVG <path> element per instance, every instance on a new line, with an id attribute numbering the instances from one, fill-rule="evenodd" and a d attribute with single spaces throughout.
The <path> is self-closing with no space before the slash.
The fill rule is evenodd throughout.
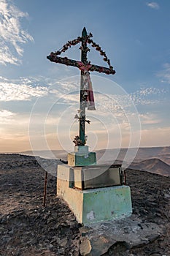
<path id="1" fill-rule="evenodd" d="M 128 151 L 129 159 L 125 158 Z M 63 150 L 53 151 L 24 151 L 20 154 L 29 156 L 43 157 L 46 159 L 63 159 L 66 160 L 68 152 Z M 151 147 L 151 148 L 114 148 L 101 149 L 96 151 L 97 160 L 99 163 L 115 164 L 131 162 L 131 157 L 135 156 L 133 162 L 129 166 L 135 170 L 147 170 L 150 173 L 158 173 L 163 176 L 170 176 L 170 146 Z"/>

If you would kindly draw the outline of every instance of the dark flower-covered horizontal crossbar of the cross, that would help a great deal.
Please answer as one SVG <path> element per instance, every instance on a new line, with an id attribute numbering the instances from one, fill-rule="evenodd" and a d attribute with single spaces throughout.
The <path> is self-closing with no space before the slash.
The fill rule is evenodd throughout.
<path id="1" fill-rule="evenodd" d="M 49 59 L 52 62 L 55 63 L 60 63 L 60 64 L 65 64 L 66 66 L 73 66 L 73 67 L 78 67 L 82 71 L 96 71 L 99 73 L 105 73 L 107 75 L 115 74 L 114 69 L 109 69 L 107 67 L 101 67 L 98 65 L 93 65 L 93 64 L 83 64 L 81 61 L 75 61 L 74 59 L 68 59 L 68 58 L 61 58 L 55 55 L 55 53 L 50 53 L 50 56 L 47 56 L 47 59 Z"/>

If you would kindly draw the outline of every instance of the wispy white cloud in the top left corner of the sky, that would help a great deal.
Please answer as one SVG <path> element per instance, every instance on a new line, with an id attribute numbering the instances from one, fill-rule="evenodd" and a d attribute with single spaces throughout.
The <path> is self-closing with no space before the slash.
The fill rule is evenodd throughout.
<path id="1" fill-rule="evenodd" d="M 22 45 L 33 41 L 33 37 L 24 31 L 21 18 L 27 18 L 28 13 L 21 12 L 12 1 L 0 2 L 0 64 L 20 64 L 23 56 Z"/>

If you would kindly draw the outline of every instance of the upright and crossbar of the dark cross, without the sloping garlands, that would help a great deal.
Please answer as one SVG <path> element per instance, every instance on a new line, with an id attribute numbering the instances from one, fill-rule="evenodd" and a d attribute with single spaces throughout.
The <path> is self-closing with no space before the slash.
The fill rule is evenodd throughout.
<path id="1" fill-rule="evenodd" d="M 60 64 L 65 64 L 67 66 L 73 66 L 73 67 L 78 67 L 81 70 L 81 80 L 80 80 L 80 142 L 81 145 L 85 145 L 85 107 L 86 107 L 86 97 L 85 97 L 85 75 L 89 74 L 89 71 L 97 71 L 97 72 L 102 72 L 105 74 L 115 74 L 114 69 L 110 69 L 107 67 L 101 67 L 98 65 L 93 65 L 88 62 L 87 58 L 87 52 L 88 52 L 88 47 L 87 47 L 87 31 L 84 28 L 82 30 L 82 37 L 81 37 L 81 61 L 75 61 L 73 59 L 68 59 L 68 58 L 61 58 L 58 57 L 56 53 L 50 53 L 50 56 L 47 56 L 47 59 L 50 61 L 53 61 L 55 63 L 60 63 Z"/>

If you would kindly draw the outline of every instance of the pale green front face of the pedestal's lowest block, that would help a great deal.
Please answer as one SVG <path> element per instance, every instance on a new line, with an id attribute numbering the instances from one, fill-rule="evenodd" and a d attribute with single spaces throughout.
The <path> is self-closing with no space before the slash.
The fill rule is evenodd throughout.
<path id="1" fill-rule="evenodd" d="M 131 190 L 128 186 L 83 191 L 82 223 L 85 225 L 120 219 L 131 213 Z"/>

